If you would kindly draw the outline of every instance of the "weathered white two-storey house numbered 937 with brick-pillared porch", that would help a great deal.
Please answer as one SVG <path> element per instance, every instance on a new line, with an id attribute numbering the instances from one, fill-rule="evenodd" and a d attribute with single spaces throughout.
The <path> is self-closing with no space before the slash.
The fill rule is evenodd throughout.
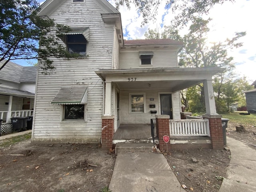
<path id="1" fill-rule="evenodd" d="M 180 148 L 223 148 L 212 87 L 212 75 L 221 68 L 179 68 L 182 42 L 124 40 L 121 15 L 106 0 L 46 0 L 40 8 L 38 16 L 72 28 L 62 33 L 63 45 L 84 58 L 51 58 L 55 70 L 48 76 L 41 74 L 39 64 L 33 141 L 101 142 L 107 149 L 135 139 L 114 139 L 118 131 L 141 130 L 156 118 L 161 149 L 166 148 L 163 135 L 196 135 L 204 140 L 172 140 L 171 146 Z M 181 112 L 179 91 L 199 83 L 204 83 L 205 119 L 182 120 L 187 113 Z"/>

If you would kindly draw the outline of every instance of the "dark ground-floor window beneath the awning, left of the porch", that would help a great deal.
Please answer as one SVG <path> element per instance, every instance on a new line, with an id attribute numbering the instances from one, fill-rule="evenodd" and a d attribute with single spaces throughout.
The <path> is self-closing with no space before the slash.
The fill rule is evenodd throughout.
<path id="1" fill-rule="evenodd" d="M 68 104 L 63 107 L 63 120 L 85 120 L 84 104 Z"/>

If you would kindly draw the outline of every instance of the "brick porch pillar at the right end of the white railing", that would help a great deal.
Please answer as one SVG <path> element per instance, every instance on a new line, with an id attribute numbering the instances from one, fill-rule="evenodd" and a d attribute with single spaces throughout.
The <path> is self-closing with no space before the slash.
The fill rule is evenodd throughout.
<path id="1" fill-rule="evenodd" d="M 224 148 L 221 117 L 221 115 L 203 115 L 203 118 L 207 118 L 209 120 L 210 137 L 213 149 Z"/>

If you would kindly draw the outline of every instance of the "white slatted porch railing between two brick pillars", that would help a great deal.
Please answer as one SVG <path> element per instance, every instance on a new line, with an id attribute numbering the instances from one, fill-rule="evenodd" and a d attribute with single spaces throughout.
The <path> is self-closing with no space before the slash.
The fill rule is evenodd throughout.
<path id="1" fill-rule="evenodd" d="M 204 119 L 169 120 L 170 135 L 210 136 L 209 122 Z"/>

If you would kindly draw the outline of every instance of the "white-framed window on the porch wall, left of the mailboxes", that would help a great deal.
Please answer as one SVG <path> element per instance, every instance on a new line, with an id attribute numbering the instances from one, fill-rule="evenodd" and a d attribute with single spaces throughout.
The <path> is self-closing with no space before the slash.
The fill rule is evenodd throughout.
<path id="1" fill-rule="evenodd" d="M 130 94 L 130 112 L 131 113 L 144 113 L 146 106 L 145 94 Z"/>

